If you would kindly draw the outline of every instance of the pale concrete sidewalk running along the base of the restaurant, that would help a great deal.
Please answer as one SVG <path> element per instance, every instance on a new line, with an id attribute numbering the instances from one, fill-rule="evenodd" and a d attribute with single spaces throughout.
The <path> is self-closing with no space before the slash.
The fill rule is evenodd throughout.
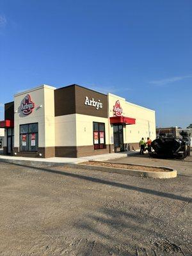
<path id="1" fill-rule="evenodd" d="M 102 154 L 97 156 L 86 157 L 49 157 L 49 158 L 37 158 L 37 157 L 17 157 L 17 156 L 4 156 L 0 155 L 0 161 L 9 163 L 36 163 L 36 164 L 78 164 L 85 161 L 107 161 L 109 159 L 116 159 L 120 157 L 126 157 L 129 155 L 138 154 L 138 151 L 126 151 L 111 154 Z"/>

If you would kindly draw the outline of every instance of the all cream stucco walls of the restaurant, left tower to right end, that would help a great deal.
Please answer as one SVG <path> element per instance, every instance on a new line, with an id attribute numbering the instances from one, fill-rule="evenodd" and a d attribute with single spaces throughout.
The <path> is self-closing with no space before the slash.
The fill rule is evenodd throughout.
<path id="1" fill-rule="evenodd" d="M 17 93 L 14 97 L 15 136 L 14 147 L 19 147 L 19 125 L 38 122 L 38 147 L 72 147 L 93 145 L 93 122 L 102 122 L 106 129 L 106 144 L 113 144 L 113 125 L 109 117 L 113 116 L 113 106 L 120 100 L 124 116 L 136 118 L 135 125 L 125 125 L 124 143 L 138 143 L 141 137 L 156 138 L 155 111 L 126 102 L 122 97 L 108 93 L 108 118 L 72 114 L 54 116 L 54 90 L 43 84 L 38 88 Z M 23 115 L 20 104 L 26 94 L 35 103 L 33 112 Z M 6 141 L 4 141 L 6 146 Z"/>

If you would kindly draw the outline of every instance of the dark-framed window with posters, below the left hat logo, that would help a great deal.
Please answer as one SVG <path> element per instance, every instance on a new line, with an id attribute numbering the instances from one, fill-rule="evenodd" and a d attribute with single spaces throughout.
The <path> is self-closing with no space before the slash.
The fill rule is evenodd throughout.
<path id="1" fill-rule="evenodd" d="M 37 151 L 38 124 L 20 125 L 20 151 Z"/>

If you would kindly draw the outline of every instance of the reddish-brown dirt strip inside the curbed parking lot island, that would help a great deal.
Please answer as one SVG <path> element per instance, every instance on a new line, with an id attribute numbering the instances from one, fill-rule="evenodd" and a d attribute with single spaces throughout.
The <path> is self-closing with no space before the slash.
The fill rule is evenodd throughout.
<path id="1" fill-rule="evenodd" d="M 120 163 L 107 163 L 107 162 L 96 162 L 96 161 L 88 161 L 88 162 L 83 162 L 81 164 L 120 168 L 120 169 L 127 169 L 127 170 L 137 170 L 137 171 L 144 171 L 144 172 L 170 172 L 170 170 L 166 168 L 158 168 L 154 166 L 141 166 L 137 164 L 120 164 Z"/>

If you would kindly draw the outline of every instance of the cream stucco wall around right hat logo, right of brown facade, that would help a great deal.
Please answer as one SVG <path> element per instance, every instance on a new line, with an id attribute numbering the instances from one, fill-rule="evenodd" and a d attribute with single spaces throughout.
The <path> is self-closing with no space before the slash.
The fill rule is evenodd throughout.
<path id="1" fill-rule="evenodd" d="M 152 109 L 143 108 L 136 104 L 127 102 L 124 98 L 108 93 L 108 115 L 114 116 L 113 106 L 116 100 L 120 100 L 123 109 L 123 116 L 136 118 L 136 124 L 125 125 L 124 127 L 124 143 L 138 143 L 143 137 L 147 140 L 149 136 L 151 140 L 156 139 L 156 113 Z M 113 138 L 113 125 L 109 127 L 109 136 L 111 141 Z"/>

